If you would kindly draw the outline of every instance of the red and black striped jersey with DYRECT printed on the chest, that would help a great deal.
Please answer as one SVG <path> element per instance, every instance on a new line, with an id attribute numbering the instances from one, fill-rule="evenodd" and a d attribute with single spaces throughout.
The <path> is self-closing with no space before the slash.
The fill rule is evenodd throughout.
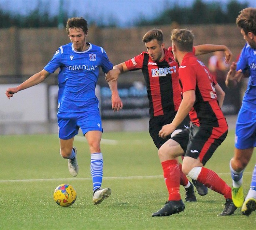
<path id="1" fill-rule="evenodd" d="M 195 52 L 195 49 L 193 49 Z M 178 79 L 178 63 L 174 60 L 172 47 L 164 49 L 165 57 L 155 62 L 148 52 L 142 52 L 125 62 L 128 70 L 141 69 L 146 82 L 149 99 L 149 115 L 175 115 L 181 103 Z"/>

